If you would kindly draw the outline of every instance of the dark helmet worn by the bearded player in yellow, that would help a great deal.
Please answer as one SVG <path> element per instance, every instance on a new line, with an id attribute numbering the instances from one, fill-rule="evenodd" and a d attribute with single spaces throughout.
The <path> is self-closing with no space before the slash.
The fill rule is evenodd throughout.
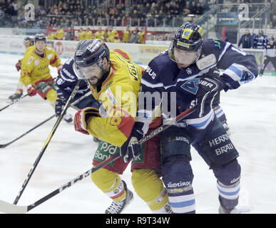
<path id="1" fill-rule="evenodd" d="M 109 61 L 109 49 L 103 41 L 100 39 L 83 39 L 76 47 L 73 61 L 78 68 L 92 66 L 95 63 L 101 67 L 104 57 Z"/>

